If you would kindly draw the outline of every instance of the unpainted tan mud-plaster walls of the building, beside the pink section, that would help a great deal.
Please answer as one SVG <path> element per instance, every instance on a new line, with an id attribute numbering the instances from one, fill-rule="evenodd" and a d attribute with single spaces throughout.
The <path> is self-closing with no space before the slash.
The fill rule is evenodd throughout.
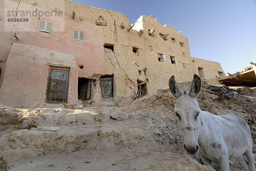
<path id="1" fill-rule="evenodd" d="M 12 2 L 18 3 L 19 0 Z M 20 3 L 37 6 L 39 1 L 35 3 L 34 0 L 22 0 Z M 100 74 L 114 75 L 115 100 L 122 96 L 136 97 L 137 81 L 146 81 L 147 94 L 152 94 L 159 88 L 165 88 L 171 75 L 175 75 L 177 81 L 188 81 L 193 74 L 199 74 L 198 68 L 202 68 L 201 77 L 212 83 L 219 84 L 215 78 L 220 77 L 219 73 L 224 76 L 218 62 L 191 57 L 188 39 L 173 27 L 162 26 L 153 16 L 140 16 L 134 27 L 127 31 L 131 25 L 130 21 L 125 15 L 111 10 L 68 0 L 56 0 L 51 3 L 44 3 L 43 0 L 38 7 L 55 12 L 64 11 L 65 16 L 70 18 L 75 12 L 74 20 L 102 28 L 104 44 L 113 45 L 114 50 L 112 52 L 105 48 L 105 72 Z M 148 30 L 153 28 L 154 33 L 148 35 Z M 140 35 L 139 32 L 142 31 Z M 88 34 L 92 33 L 93 31 Z M 169 35 L 163 39 L 167 34 Z M 137 49 L 137 53 L 133 52 L 133 48 Z M 158 61 L 157 53 L 164 55 L 163 62 Z M 172 64 L 170 56 L 175 58 L 176 64 Z"/>

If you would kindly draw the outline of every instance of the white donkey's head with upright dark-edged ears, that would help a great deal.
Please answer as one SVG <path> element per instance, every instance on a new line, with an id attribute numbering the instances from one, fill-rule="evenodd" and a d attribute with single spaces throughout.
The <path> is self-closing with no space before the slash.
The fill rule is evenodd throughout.
<path id="1" fill-rule="evenodd" d="M 198 75 L 194 75 L 189 93 L 180 92 L 174 75 L 169 79 L 169 87 L 176 97 L 175 116 L 177 124 L 184 140 L 184 148 L 189 154 L 196 154 L 199 150 L 198 134 L 201 128 L 200 108 L 196 97 L 201 90 L 201 79 Z"/>

